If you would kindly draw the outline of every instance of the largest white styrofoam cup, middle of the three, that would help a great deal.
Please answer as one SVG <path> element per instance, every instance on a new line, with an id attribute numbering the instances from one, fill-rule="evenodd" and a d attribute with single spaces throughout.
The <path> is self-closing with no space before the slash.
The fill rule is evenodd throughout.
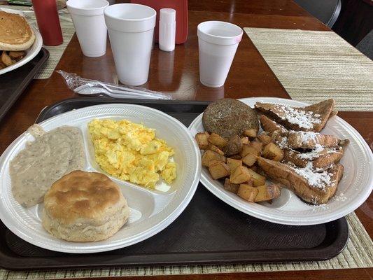
<path id="1" fill-rule="evenodd" d="M 143 85 L 148 80 L 157 12 L 148 6 L 121 3 L 108 6 L 104 15 L 120 83 Z"/>

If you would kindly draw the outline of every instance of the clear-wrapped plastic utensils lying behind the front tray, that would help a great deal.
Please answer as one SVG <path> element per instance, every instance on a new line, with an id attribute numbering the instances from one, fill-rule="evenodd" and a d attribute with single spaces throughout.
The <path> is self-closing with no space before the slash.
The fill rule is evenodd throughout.
<path id="1" fill-rule="evenodd" d="M 103 83 L 98 80 L 81 78 L 75 73 L 67 73 L 62 70 L 58 70 L 57 73 L 64 78 L 67 87 L 77 94 L 130 99 L 173 99 L 169 94 L 146 90 L 143 87 Z"/>

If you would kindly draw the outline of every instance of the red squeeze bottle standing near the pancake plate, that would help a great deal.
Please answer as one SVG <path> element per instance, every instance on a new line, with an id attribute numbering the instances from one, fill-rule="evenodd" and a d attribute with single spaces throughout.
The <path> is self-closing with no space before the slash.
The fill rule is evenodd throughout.
<path id="1" fill-rule="evenodd" d="M 44 45 L 61 45 L 61 25 L 57 13 L 56 0 L 32 0 L 38 28 L 43 37 Z"/>

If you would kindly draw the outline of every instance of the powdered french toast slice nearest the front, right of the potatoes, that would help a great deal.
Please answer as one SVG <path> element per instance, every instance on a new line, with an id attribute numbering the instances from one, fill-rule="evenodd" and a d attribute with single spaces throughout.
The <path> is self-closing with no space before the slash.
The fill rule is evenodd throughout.
<path id="1" fill-rule="evenodd" d="M 298 169 L 274 160 L 258 158 L 258 165 L 270 179 L 283 184 L 302 200 L 311 204 L 324 204 L 330 200 L 342 179 L 343 165 L 332 165 L 323 172 L 311 168 Z"/>

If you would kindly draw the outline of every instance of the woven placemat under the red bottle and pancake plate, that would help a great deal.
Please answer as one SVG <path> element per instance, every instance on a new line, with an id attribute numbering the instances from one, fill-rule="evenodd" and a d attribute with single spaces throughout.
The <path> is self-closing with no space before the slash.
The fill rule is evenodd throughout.
<path id="1" fill-rule="evenodd" d="M 4 8 L 11 8 L 13 10 L 31 10 L 30 7 L 24 6 L 6 6 Z M 25 13 L 25 17 L 30 25 L 38 29 L 34 13 Z M 45 79 L 49 78 L 52 75 L 53 71 L 55 71 L 55 68 L 59 62 L 59 59 L 61 59 L 64 50 L 66 49 L 67 45 L 71 41 L 71 38 L 73 37 L 75 29 L 73 27 L 73 21 L 71 20 L 69 12 L 66 8 L 59 10 L 59 23 L 62 28 L 62 36 L 64 38 L 64 43 L 52 47 L 48 45 L 43 45 L 43 48 L 46 48 L 49 51 L 49 58 L 43 64 L 43 66 L 41 66 L 41 69 L 38 71 L 38 73 L 36 73 L 36 76 L 34 76 L 34 78 L 36 79 Z"/>

